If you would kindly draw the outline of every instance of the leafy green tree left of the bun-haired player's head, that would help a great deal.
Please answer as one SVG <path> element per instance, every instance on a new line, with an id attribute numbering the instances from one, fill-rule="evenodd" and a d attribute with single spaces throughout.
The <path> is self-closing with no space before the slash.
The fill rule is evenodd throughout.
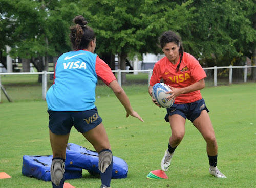
<path id="1" fill-rule="evenodd" d="M 73 14 L 79 10 L 78 4 L 65 0 L 1 0 L 1 3 L 6 9 L 2 11 L 2 18 L 14 25 L 7 27 L 3 41 L 8 44 L 7 39 L 12 39 L 9 42 L 11 56 L 24 60 L 25 71 L 28 71 L 25 64 L 29 62 L 38 71 L 48 70 L 49 56 L 57 57 L 70 50 L 69 25 Z M 38 82 L 41 82 L 41 75 Z"/>

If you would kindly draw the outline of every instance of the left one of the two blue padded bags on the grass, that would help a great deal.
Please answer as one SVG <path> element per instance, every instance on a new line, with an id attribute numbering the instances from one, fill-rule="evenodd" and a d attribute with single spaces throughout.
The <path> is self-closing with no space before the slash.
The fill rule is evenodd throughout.
<path id="1" fill-rule="evenodd" d="M 51 181 L 52 155 L 47 156 L 23 156 L 22 174 L 28 177 L 35 177 L 44 181 Z M 81 168 L 65 169 L 65 179 L 82 177 Z"/>

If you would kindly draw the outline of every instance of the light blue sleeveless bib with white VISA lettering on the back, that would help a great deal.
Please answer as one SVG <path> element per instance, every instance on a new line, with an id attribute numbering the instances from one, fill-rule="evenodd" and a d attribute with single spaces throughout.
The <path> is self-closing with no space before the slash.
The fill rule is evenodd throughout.
<path id="1" fill-rule="evenodd" d="M 55 66 L 54 84 L 47 91 L 51 111 L 85 111 L 95 108 L 97 55 L 85 50 L 63 53 Z"/>

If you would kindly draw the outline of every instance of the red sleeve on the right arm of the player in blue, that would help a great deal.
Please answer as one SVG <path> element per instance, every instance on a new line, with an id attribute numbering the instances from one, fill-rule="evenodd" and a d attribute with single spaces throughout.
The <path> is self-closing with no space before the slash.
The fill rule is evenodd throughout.
<path id="1" fill-rule="evenodd" d="M 111 68 L 108 64 L 106 64 L 102 59 L 97 56 L 96 64 L 95 64 L 95 71 L 97 76 L 107 85 L 116 80 L 115 75 L 111 71 Z"/>

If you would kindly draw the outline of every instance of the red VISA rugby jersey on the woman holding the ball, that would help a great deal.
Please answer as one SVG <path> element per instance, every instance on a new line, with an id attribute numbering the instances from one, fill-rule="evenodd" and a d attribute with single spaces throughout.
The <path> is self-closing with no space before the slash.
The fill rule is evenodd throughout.
<path id="1" fill-rule="evenodd" d="M 174 88 L 184 88 L 206 77 L 206 73 L 198 60 L 189 53 L 183 53 L 180 68 L 176 71 L 179 62 L 180 59 L 174 65 L 166 57 L 159 60 L 154 66 L 150 85 L 154 86 L 154 84 L 163 79 L 164 83 L 167 85 Z M 200 90 L 197 90 L 190 93 L 180 94 L 176 97 L 175 103 L 191 103 L 200 99 L 202 99 L 202 95 Z"/>

